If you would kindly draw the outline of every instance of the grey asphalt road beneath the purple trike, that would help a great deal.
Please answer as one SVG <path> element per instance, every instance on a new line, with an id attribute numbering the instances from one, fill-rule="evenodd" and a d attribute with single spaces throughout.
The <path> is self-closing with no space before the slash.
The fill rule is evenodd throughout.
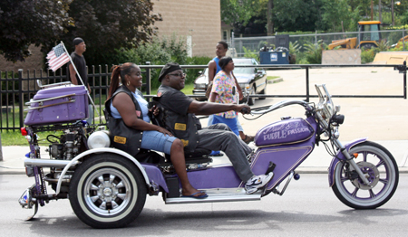
<path id="1" fill-rule="evenodd" d="M 327 185 L 327 175 L 301 175 L 283 196 L 261 201 L 165 205 L 148 197 L 138 219 L 127 228 L 95 230 L 73 213 L 68 200 L 32 210 L 17 204 L 34 182 L 25 175 L 0 175 L 2 236 L 405 236 L 408 175 L 400 175 L 393 198 L 376 210 L 356 211 L 342 204 Z"/>

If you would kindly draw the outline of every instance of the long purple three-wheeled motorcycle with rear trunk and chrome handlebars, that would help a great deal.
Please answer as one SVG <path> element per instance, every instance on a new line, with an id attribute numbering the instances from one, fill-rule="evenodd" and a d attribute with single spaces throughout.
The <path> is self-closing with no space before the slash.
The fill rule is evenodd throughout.
<path id="1" fill-rule="evenodd" d="M 333 104 L 325 85 L 316 85 L 316 90 L 317 104 L 284 100 L 252 111 L 260 115 L 289 105 L 306 110 L 305 119 L 287 117 L 257 131 L 257 149 L 248 161 L 255 175 L 274 172 L 265 188 L 246 194 L 231 164 L 214 165 L 206 154 L 189 154 L 189 181 L 209 194 L 208 198 L 195 199 L 180 195 L 180 181 L 168 158 L 151 151 L 130 156 L 111 147 L 109 130 L 104 126 L 92 127 L 82 121 L 88 117 L 83 86 L 50 85 L 27 103 L 30 108 L 22 133 L 29 141 L 30 153 L 24 166 L 26 175 L 34 177 L 35 183 L 25 190 L 19 204 L 34 209 L 35 214 L 39 205 L 68 198 L 83 223 L 94 228 L 115 228 L 135 221 L 148 194 L 161 193 L 165 204 L 260 200 L 267 194 L 284 194 L 291 179 L 299 178 L 296 167 L 318 143 L 324 143 L 332 156 L 329 186 L 342 203 L 355 209 L 374 209 L 385 204 L 398 185 L 393 156 L 365 138 L 342 145 L 338 127 L 345 117 L 338 114 L 340 107 Z M 46 158 L 40 155 L 36 135 L 42 131 L 55 131 L 46 137 Z M 53 194 L 48 193 L 47 185 Z"/>

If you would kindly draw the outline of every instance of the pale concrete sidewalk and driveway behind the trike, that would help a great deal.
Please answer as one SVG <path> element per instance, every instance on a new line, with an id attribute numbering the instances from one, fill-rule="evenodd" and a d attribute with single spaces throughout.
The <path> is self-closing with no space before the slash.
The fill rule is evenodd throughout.
<path id="1" fill-rule="evenodd" d="M 402 95 L 403 74 L 392 68 L 322 68 L 309 71 L 310 92 L 316 95 L 315 84 L 326 84 L 332 95 Z M 283 81 L 267 85 L 268 95 L 306 94 L 305 70 L 267 71 L 270 76 L 278 76 Z M 306 98 L 270 98 L 256 100 L 254 107 L 272 105 L 281 100 L 305 100 Z M 355 138 L 368 137 L 370 141 L 386 147 L 394 156 L 400 172 L 408 173 L 408 100 L 403 99 L 347 99 L 334 98 L 335 105 L 341 105 L 345 123 L 340 126 L 340 140 L 343 144 Z M 317 99 L 311 99 L 317 102 Z M 245 132 L 255 135 L 259 128 L 291 116 L 305 118 L 305 109 L 289 106 L 255 120 L 247 120 L 240 115 L 239 121 Z M 246 116 L 247 118 L 253 118 Z M 203 126 L 207 119 L 202 119 Z M 48 158 L 42 147 L 42 155 Z M 24 174 L 25 147 L 3 147 L 3 161 L 0 161 L 1 174 Z M 316 147 L 296 171 L 299 173 L 326 173 L 332 157 L 325 147 Z M 227 157 L 214 157 L 214 163 L 228 163 Z"/>

